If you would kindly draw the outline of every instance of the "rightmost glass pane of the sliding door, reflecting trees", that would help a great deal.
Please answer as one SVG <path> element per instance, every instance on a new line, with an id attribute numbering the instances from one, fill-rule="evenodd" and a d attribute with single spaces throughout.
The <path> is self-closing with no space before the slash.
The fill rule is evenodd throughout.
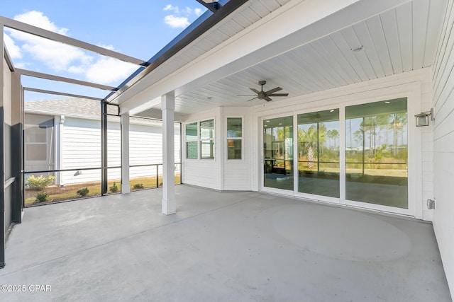
<path id="1" fill-rule="evenodd" d="M 346 199 L 408 209 L 406 98 L 345 108 Z"/>

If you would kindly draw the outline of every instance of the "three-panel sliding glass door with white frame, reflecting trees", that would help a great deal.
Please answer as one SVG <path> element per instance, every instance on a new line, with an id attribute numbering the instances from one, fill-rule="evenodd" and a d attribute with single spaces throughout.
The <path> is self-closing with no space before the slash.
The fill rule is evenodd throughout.
<path id="1" fill-rule="evenodd" d="M 407 137 L 406 98 L 263 120 L 263 186 L 402 213 Z"/>

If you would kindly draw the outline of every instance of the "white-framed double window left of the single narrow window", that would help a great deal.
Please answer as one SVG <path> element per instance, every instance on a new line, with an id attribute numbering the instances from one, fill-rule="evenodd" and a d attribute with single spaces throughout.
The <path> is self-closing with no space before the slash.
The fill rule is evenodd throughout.
<path id="1" fill-rule="evenodd" d="M 200 147 L 199 147 L 200 141 Z M 186 124 L 186 158 L 214 158 L 214 120 Z"/>

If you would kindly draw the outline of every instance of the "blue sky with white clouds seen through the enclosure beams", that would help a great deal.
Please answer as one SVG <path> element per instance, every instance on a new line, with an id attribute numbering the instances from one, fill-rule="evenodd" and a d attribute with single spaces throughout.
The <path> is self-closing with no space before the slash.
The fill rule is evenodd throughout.
<path id="1" fill-rule="evenodd" d="M 0 0 L 0 15 L 148 60 L 201 16 L 195 0 Z M 137 66 L 5 28 L 17 68 L 118 86 Z M 108 91 L 23 76 L 23 86 L 104 97 Z M 26 100 L 61 98 L 26 93 Z"/>

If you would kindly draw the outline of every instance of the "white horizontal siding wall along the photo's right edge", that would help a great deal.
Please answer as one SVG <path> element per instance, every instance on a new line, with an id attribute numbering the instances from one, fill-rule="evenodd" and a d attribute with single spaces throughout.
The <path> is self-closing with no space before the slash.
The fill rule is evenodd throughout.
<path id="1" fill-rule="evenodd" d="M 454 1 L 448 1 L 433 66 L 433 229 L 451 294 L 454 294 Z M 427 127 L 426 127 L 427 128 Z M 430 142 L 426 142 L 430 144 Z M 423 144 L 426 145 L 426 144 Z"/>

